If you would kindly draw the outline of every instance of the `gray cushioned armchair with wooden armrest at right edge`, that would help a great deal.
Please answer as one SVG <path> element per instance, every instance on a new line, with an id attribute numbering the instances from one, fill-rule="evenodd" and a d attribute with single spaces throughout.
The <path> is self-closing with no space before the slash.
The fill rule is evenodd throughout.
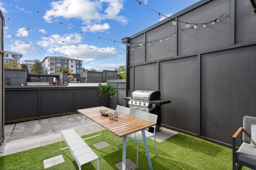
<path id="1" fill-rule="evenodd" d="M 252 124 L 256 125 L 256 117 L 244 116 L 243 127 L 233 135 L 233 170 L 238 169 L 240 165 L 256 169 L 256 148 L 250 146 Z M 236 152 L 236 137 L 241 131 L 243 143 Z"/>

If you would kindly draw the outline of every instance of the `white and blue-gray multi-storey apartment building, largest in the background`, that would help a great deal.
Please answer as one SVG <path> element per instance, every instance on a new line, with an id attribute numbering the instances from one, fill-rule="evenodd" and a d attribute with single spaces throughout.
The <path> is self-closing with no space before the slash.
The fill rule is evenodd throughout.
<path id="1" fill-rule="evenodd" d="M 68 57 L 45 57 L 41 63 L 44 74 L 55 74 L 56 69 L 60 67 L 70 68 L 71 74 L 80 74 L 82 72 L 82 62 L 82 60 Z"/>

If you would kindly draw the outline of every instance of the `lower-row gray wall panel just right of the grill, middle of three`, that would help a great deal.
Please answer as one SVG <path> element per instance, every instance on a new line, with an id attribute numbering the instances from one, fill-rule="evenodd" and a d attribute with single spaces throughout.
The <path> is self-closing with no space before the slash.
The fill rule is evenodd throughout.
<path id="1" fill-rule="evenodd" d="M 196 133 L 197 57 L 160 62 L 159 79 L 161 99 L 172 100 L 162 106 L 161 122 Z"/>

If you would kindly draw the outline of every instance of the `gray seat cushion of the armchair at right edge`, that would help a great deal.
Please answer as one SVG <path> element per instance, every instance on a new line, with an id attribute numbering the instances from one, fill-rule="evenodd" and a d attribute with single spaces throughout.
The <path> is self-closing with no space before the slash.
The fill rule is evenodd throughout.
<path id="1" fill-rule="evenodd" d="M 236 159 L 256 166 L 256 148 L 251 147 L 250 143 L 243 142 L 236 152 Z"/>

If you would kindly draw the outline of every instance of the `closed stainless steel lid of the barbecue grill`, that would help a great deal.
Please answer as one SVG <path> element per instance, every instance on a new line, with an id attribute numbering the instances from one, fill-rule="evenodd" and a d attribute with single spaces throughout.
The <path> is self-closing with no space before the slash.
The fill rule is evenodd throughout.
<path id="1" fill-rule="evenodd" d="M 161 95 L 159 91 L 136 90 L 132 92 L 132 99 L 159 100 L 160 96 Z"/>

